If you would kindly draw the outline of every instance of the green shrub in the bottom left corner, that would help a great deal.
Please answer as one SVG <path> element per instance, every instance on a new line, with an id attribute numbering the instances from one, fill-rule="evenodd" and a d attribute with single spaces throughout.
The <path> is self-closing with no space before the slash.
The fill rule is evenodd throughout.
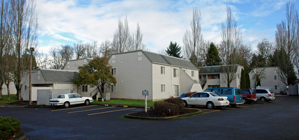
<path id="1" fill-rule="evenodd" d="M 16 118 L 0 116 L 0 139 L 15 139 L 20 137 L 21 123 Z"/>

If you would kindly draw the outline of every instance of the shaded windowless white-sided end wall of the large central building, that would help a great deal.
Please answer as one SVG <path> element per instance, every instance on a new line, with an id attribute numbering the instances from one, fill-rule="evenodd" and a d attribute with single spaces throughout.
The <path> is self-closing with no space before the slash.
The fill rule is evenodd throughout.
<path id="1" fill-rule="evenodd" d="M 147 90 L 148 100 L 153 100 L 152 65 L 144 54 L 138 55 L 138 52 L 117 54 L 109 59 L 109 64 L 112 68 L 116 68 L 117 73 L 116 92 L 107 90 L 111 98 L 144 100 L 141 92 Z"/>

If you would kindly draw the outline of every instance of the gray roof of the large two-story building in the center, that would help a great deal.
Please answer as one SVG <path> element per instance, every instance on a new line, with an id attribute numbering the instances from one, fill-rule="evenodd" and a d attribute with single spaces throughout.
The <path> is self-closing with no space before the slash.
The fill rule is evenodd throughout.
<path id="1" fill-rule="evenodd" d="M 165 65 L 173 65 L 181 68 L 191 68 L 194 70 L 198 70 L 198 68 L 191 63 L 191 61 L 185 60 L 185 59 L 179 59 L 174 56 L 166 56 L 163 54 L 156 54 L 153 52 L 147 52 L 144 50 L 137 50 L 137 51 L 132 51 L 132 52 L 143 52 L 144 56 L 151 61 L 151 63 L 160 63 L 160 64 L 165 64 Z M 132 52 L 123 52 L 120 54 L 128 54 Z M 114 55 L 114 54 L 113 54 Z"/>

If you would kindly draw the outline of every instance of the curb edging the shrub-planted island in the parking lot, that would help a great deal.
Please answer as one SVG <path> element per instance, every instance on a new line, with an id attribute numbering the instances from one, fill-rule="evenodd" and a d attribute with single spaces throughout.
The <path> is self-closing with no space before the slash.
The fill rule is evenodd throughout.
<path id="1" fill-rule="evenodd" d="M 132 112 L 130 114 L 125 114 L 125 117 L 127 118 L 140 118 L 140 119 L 145 119 L 145 120 L 169 120 L 172 118 L 179 118 L 179 117 L 184 117 L 184 116 L 191 116 L 195 114 L 200 114 L 202 113 L 201 110 L 199 109 L 192 109 L 192 110 L 197 110 L 195 112 L 192 112 L 190 114 L 182 114 L 182 115 L 177 115 L 177 116 L 167 116 L 167 117 L 143 117 L 143 116 L 132 116 L 130 114 L 135 114 L 136 112 Z M 144 111 L 138 111 L 138 112 L 144 112 Z"/>

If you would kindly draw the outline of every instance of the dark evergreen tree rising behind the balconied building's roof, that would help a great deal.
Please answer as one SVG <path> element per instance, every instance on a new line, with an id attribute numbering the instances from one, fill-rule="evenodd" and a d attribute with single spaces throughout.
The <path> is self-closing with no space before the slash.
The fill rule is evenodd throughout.
<path id="1" fill-rule="evenodd" d="M 206 54 L 206 65 L 220 65 L 221 59 L 219 57 L 218 49 L 215 45 L 210 43 L 210 48 Z"/>

